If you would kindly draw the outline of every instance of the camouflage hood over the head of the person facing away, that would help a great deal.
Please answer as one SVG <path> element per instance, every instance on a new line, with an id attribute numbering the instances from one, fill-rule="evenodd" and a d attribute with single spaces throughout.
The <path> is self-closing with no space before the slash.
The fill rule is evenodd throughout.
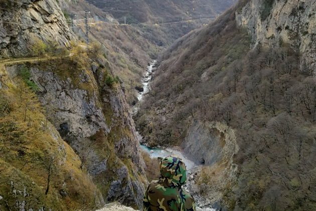
<path id="1" fill-rule="evenodd" d="M 169 156 L 159 164 L 161 173 L 161 182 L 165 187 L 181 186 L 187 182 L 187 168 L 181 158 Z"/>

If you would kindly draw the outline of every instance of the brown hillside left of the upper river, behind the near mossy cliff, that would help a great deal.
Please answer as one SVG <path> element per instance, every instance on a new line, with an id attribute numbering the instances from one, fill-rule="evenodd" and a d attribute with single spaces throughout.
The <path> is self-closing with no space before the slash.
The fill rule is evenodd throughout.
<path id="1" fill-rule="evenodd" d="M 143 70 L 151 58 L 156 57 L 159 48 L 129 25 L 99 22 L 91 27 L 90 32 L 93 39 L 103 46 L 114 74 L 124 82 L 128 102 L 135 103 L 137 91 L 134 87 L 140 86 Z"/>

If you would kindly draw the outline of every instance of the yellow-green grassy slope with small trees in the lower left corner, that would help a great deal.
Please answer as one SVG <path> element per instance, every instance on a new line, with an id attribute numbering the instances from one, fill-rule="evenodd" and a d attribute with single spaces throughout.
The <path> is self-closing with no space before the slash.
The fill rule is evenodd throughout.
<path id="1" fill-rule="evenodd" d="M 80 168 L 80 157 L 15 77 L 17 68 L 0 68 L 0 209 L 102 207 L 103 196 Z"/>

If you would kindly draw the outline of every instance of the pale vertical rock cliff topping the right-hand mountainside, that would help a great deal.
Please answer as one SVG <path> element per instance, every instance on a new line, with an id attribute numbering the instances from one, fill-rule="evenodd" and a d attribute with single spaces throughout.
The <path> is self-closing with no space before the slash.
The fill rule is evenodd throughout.
<path id="1" fill-rule="evenodd" d="M 316 69 L 316 4 L 314 0 L 252 0 L 236 12 L 239 27 L 248 29 L 253 47 L 289 43 L 300 56 L 300 70 L 313 74 Z"/>

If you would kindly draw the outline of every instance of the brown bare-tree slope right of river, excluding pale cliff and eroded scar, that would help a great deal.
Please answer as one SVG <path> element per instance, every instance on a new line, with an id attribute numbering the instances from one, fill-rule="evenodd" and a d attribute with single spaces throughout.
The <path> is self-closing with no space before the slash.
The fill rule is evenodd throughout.
<path id="1" fill-rule="evenodd" d="M 235 21 L 247 2 L 164 53 L 137 127 L 150 145 L 180 145 L 194 120 L 225 123 L 237 131 L 240 150 L 223 206 L 315 210 L 316 81 L 299 72 L 300 54 L 287 43 L 249 50 L 251 39 Z M 207 169 L 200 181 L 212 177 Z"/>

